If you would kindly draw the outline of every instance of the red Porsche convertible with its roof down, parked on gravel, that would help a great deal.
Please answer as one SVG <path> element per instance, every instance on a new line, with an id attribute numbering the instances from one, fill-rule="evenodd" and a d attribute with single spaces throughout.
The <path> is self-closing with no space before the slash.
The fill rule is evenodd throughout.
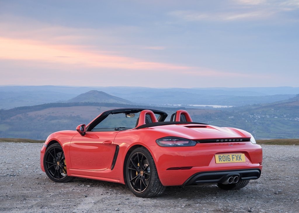
<path id="1" fill-rule="evenodd" d="M 111 181 L 138 197 L 158 196 L 166 186 L 241 189 L 260 177 L 262 148 L 250 133 L 193 122 L 185 110 L 166 117 L 153 109 L 103 112 L 77 131 L 49 135 L 41 168 L 55 182 Z"/>

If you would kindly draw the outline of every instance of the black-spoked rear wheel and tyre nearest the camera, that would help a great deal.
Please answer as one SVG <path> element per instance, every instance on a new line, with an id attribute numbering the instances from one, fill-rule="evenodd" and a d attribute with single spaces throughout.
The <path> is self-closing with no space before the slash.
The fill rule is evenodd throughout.
<path id="1" fill-rule="evenodd" d="M 134 149 L 129 155 L 126 183 L 137 197 L 156 197 L 166 189 L 160 182 L 152 155 L 144 147 Z"/>

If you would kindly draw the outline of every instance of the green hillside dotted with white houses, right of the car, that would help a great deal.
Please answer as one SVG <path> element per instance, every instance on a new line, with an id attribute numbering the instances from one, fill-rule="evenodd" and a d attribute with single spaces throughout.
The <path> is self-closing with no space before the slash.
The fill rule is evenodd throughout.
<path id="1" fill-rule="evenodd" d="M 257 139 L 299 138 L 299 95 L 271 104 L 254 104 L 220 112 L 210 124 L 251 132 Z"/>

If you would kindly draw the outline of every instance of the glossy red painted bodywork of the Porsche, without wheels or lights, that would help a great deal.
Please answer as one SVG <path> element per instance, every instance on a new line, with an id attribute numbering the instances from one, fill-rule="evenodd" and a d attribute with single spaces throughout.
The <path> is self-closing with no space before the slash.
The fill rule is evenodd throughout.
<path id="1" fill-rule="evenodd" d="M 99 117 L 100 115 L 97 118 Z M 97 118 L 87 125 L 87 129 Z M 137 127 L 143 124 L 143 121 L 139 121 Z M 186 147 L 159 146 L 156 140 L 167 136 L 194 141 L 222 140 L 223 138 L 228 138 L 231 141 L 197 143 L 195 146 Z M 154 159 L 161 183 L 164 186 L 180 186 L 184 185 L 192 175 L 199 172 L 243 169 L 259 169 L 261 171 L 261 146 L 241 140 L 251 137 L 250 133 L 241 129 L 196 123 L 133 128 L 126 131 L 87 131 L 85 135 L 81 135 L 77 131 L 60 131 L 49 135 L 45 141 L 41 150 L 40 165 L 45 171 L 43 160 L 46 146 L 57 141 L 65 154 L 68 176 L 125 184 L 126 156 L 132 147 L 144 146 Z M 232 141 L 234 138 L 239 141 Z M 115 154 L 116 150 L 118 150 L 117 154 Z M 245 162 L 216 163 L 215 161 L 216 154 L 237 153 L 245 155 Z M 115 155 L 117 158 L 113 163 Z"/>

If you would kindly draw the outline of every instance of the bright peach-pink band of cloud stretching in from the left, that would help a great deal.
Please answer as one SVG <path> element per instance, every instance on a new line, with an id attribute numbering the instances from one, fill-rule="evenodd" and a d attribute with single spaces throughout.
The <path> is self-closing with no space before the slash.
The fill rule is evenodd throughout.
<path id="1" fill-rule="evenodd" d="M 191 67 L 176 64 L 141 61 L 119 55 L 88 51 L 75 45 L 51 45 L 22 39 L 0 38 L 1 59 L 47 61 L 60 64 L 78 64 L 81 67 L 103 67 L 130 70 L 188 70 Z"/>

